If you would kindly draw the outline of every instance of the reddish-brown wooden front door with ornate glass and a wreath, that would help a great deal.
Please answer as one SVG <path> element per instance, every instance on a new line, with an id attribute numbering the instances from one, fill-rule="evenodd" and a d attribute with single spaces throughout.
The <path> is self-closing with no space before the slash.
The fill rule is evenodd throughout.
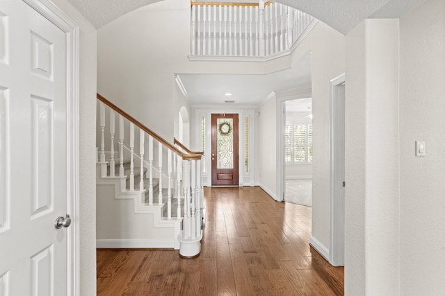
<path id="1" fill-rule="evenodd" d="M 238 185 L 238 114 L 211 114 L 211 184 Z"/>

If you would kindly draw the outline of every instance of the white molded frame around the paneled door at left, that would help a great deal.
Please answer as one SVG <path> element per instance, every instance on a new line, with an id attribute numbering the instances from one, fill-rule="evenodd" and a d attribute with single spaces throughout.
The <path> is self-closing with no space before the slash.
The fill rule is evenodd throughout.
<path id="1" fill-rule="evenodd" d="M 79 261 L 79 26 L 49 0 L 22 0 L 67 37 L 67 295 L 80 295 Z"/>

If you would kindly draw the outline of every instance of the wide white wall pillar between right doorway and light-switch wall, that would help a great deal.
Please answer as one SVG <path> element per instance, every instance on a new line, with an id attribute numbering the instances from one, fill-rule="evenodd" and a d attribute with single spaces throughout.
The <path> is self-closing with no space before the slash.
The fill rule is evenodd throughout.
<path id="1" fill-rule="evenodd" d="M 347 40 L 345 293 L 400 295 L 398 19 Z"/>

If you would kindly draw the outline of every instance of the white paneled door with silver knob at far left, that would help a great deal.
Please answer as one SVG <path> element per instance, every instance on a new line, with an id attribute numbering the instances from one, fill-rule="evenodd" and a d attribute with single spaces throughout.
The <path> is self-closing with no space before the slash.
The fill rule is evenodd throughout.
<path id="1" fill-rule="evenodd" d="M 1 296 L 69 294 L 67 110 L 66 33 L 0 1 Z"/>

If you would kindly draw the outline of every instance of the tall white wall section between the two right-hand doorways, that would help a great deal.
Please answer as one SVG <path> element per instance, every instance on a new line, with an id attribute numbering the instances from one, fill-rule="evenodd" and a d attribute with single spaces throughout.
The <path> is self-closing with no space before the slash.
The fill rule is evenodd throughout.
<path id="1" fill-rule="evenodd" d="M 311 242 L 327 257 L 326 252 L 330 247 L 329 81 L 345 72 L 345 37 L 321 22 L 311 35 L 314 146 Z"/>

